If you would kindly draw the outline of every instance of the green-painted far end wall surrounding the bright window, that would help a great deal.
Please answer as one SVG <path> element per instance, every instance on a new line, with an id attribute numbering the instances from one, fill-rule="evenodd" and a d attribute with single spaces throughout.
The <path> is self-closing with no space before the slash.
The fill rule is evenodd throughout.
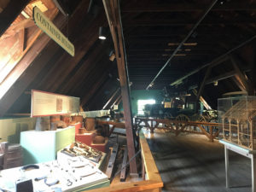
<path id="1" fill-rule="evenodd" d="M 156 104 L 160 104 L 164 100 L 161 96 L 160 90 L 131 90 L 132 115 L 137 114 L 137 101 L 148 99 L 154 99 Z M 123 110 L 122 102 L 119 105 L 119 110 Z"/>

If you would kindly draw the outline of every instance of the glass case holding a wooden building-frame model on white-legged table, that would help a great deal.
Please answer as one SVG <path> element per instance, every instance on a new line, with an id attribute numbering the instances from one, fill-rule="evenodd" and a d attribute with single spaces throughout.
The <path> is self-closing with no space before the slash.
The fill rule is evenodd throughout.
<path id="1" fill-rule="evenodd" d="M 256 96 L 218 99 L 219 138 L 256 150 Z"/>

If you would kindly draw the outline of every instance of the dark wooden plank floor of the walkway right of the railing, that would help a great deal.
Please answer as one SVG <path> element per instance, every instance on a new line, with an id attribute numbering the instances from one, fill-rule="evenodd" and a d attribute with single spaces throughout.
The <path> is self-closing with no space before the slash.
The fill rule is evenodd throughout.
<path id="1" fill-rule="evenodd" d="M 249 192 L 250 160 L 230 152 L 230 189 L 225 188 L 224 146 L 211 143 L 204 135 L 145 131 L 164 182 L 163 191 Z"/>

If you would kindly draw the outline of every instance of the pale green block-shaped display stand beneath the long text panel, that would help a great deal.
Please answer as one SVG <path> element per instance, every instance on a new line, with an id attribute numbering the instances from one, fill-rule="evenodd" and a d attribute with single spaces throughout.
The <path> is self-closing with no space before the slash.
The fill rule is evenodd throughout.
<path id="1" fill-rule="evenodd" d="M 57 151 L 75 141 L 75 128 L 69 126 L 56 131 L 20 132 L 23 164 L 36 164 L 56 160 Z"/>

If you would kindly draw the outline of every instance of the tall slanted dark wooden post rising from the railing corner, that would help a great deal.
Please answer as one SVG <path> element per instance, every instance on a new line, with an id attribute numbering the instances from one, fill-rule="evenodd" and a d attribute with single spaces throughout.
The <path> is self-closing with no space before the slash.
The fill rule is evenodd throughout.
<path id="1" fill-rule="evenodd" d="M 130 89 L 127 66 L 125 61 L 125 49 L 123 41 L 122 24 L 119 13 L 119 3 L 117 0 L 103 0 L 104 8 L 108 18 L 108 25 L 113 38 L 116 61 L 119 71 L 119 82 L 123 100 L 126 140 L 128 147 L 128 156 L 131 159 L 135 155 L 134 131 L 132 128 L 132 114 L 130 102 Z M 137 175 L 136 159 L 130 162 L 130 174 Z"/>

